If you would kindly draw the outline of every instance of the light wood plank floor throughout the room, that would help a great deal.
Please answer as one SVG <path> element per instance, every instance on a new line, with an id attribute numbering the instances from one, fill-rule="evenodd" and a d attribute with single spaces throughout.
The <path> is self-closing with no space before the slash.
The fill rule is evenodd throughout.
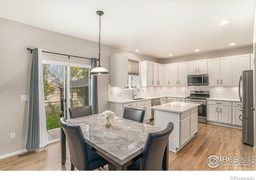
<path id="1" fill-rule="evenodd" d="M 252 146 L 242 144 L 241 131 L 198 123 L 196 136 L 178 153 L 169 152 L 169 170 L 254 170 L 251 165 L 210 168 L 206 163 L 210 155 L 238 156 L 239 158 L 255 156 Z M 60 142 L 55 142 L 36 150 L 34 154 L 20 158 L 16 155 L 0 160 L 0 170 L 70 170 L 68 145 L 67 160 L 64 166 L 61 166 L 60 162 Z M 97 170 L 108 170 L 108 167 L 104 166 Z"/>

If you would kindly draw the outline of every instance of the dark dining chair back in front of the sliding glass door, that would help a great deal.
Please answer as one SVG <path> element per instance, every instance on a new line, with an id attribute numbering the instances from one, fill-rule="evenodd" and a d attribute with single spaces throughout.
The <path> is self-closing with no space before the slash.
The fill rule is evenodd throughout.
<path id="1" fill-rule="evenodd" d="M 92 115 L 92 105 L 72 107 L 68 110 L 70 118 L 78 118 L 82 116 Z"/>

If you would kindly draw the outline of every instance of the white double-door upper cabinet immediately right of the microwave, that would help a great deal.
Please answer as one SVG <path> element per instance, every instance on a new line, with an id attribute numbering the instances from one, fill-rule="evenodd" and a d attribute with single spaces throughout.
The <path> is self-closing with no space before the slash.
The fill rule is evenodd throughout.
<path id="1" fill-rule="evenodd" d="M 208 86 L 232 86 L 232 58 L 208 59 Z"/>

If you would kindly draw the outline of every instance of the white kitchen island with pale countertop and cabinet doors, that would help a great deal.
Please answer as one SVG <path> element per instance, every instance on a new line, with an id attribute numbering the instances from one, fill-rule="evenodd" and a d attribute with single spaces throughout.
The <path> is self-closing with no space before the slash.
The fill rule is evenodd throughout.
<path id="1" fill-rule="evenodd" d="M 154 109 L 154 126 L 166 128 L 168 122 L 174 124 L 169 137 L 170 151 L 178 152 L 197 133 L 198 106 L 200 104 L 170 102 L 151 107 Z"/>

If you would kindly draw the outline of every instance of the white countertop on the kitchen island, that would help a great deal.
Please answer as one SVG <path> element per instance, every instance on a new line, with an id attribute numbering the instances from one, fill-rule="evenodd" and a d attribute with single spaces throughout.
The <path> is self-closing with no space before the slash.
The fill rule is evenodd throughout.
<path id="1" fill-rule="evenodd" d="M 200 105 L 201 104 L 190 103 L 190 102 L 169 102 L 169 103 L 161 104 L 158 106 L 152 106 L 150 108 L 155 109 L 155 110 L 163 110 L 163 111 L 169 111 L 169 112 L 182 113 L 182 112 L 185 112 L 187 110 L 190 110 L 190 109 L 195 108 Z"/>

